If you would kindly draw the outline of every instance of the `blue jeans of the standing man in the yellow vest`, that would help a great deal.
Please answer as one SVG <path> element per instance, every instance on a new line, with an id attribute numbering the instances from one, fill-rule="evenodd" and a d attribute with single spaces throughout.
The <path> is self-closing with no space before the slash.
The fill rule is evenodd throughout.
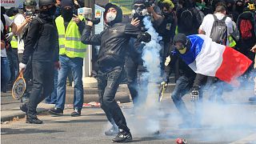
<path id="1" fill-rule="evenodd" d="M 64 110 L 66 99 L 66 78 L 69 69 L 74 78 L 74 109 L 82 110 L 83 104 L 83 86 L 82 86 L 82 58 L 69 58 L 66 55 L 60 55 L 61 70 L 58 71 L 57 102 L 56 107 Z"/>

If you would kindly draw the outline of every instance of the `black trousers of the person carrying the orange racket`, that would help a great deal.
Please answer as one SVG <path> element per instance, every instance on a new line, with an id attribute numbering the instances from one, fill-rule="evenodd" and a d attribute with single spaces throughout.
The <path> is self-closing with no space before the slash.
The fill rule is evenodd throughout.
<path id="1" fill-rule="evenodd" d="M 36 116 L 38 103 L 54 90 L 54 62 L 32 62 L 33 86 L 27 103 L 28 118 Z"/>

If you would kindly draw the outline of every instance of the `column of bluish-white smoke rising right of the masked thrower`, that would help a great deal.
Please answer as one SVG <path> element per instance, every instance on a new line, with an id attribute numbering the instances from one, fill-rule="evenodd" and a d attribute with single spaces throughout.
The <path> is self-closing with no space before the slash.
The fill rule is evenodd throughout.
<path id="1" fill-rule="evenodd" d="M 143 18 L 143 23 L 147 32 L 151 35 L 151 41 L 146 43 L 142 51 L 143 66 L 147 72 L 142 74 L 138 88 L 139 106 L 134 111 L 132 118 L 127 115 L 128 121 L 132 123 L 131 129 L 134 134 L 154 134 L 160 130 L 159 115 L 161 112 L 158 107 L 158 82 L 161 77 L 159 41 L 162 37 L 154 30 L 150 17 Z M 146 99 L 146 100 L 145 100 Z"/>

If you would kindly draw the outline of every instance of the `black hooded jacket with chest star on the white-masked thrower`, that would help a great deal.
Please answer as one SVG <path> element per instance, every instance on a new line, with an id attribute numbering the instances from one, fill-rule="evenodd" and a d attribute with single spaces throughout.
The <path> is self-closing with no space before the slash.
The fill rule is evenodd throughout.
<path id="1" fill-rule="evenodd" d="M 87 25 L 81 37 L 85 44 L 101 46 L 98 54 L 98 66 L 103 71 L 111 70 L 115 66 L 123 66 L 130 38 L 138 38 L 138 34 L 140 34 L 138 27 L 132 26 L 130 23 L 122 23 L 122 10 L 114 4 L 106 4 L 105 22 L 106 12 L 110 7 L 117 10 L 114 21 L 106 23 L 105 30 L 92 36 L 90 35 L 92 26 Z"/>

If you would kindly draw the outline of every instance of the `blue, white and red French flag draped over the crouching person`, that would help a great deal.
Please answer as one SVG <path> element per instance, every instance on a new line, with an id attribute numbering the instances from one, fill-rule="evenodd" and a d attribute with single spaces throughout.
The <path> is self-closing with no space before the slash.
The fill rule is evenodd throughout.
<path id="1" fill-rule="evenodd" d="M 212 39 L 206 35 L 194 34 L 187 38 L 190 38 L 192 46 L 180 56 L 197 74 L 217 77 L 224 82 L 233 83 L 252 63 L 237 50 L 212 42 Z"/>

